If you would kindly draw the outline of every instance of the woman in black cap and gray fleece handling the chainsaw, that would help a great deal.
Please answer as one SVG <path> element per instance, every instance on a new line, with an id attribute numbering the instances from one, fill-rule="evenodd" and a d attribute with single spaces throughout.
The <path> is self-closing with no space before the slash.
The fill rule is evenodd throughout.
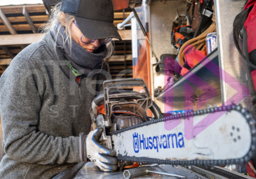
<path id="1" fill-rule="evenodd" d="M 20 52 L 0 79 L 6 155 L 0 179 L 52 179 L 90 158 L 116 170 L 115 151 L 97 143 L 89 109 L 107 77 L 104 58 L 121 40 L 111 0 L 62 0 L 44 38 Z M 88 135 L 87 135 L 88 134 Z"/>

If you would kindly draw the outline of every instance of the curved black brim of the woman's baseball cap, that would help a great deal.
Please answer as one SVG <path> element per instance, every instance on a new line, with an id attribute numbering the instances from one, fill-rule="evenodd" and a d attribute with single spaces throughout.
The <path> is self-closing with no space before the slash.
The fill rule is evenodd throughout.
<path id="1" fill-rule="evenodd" d="M 112 22 L 97 21 L 75 16 L 75 21 L 83 35 L 89 39 L 116 38 L 123 41 Z"/>

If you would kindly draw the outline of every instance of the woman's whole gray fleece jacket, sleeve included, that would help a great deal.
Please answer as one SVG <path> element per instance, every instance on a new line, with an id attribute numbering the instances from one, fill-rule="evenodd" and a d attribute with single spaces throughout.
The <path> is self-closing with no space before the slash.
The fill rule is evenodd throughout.
<path id="1" fill-rule="evenodd" d="M 0 79 L 0 179 L 52 179 L 80 162 L 79 133 L 91 129 L 89 109 L 105 70 L 104 63 L 78 83 L 50 33 L 13 59 Z"/>

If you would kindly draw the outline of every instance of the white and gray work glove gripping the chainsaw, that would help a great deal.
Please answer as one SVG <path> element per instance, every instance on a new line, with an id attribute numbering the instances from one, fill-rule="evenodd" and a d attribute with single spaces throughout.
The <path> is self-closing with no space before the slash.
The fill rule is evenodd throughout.
<path id="1" fill-rule="evenodd" d="M 80 160 L 87 162 L 87 157 L 103 171 L 115 171 L 117 169 L 116 152 L 106 148 L 98 142 L 103 129 L 98 128 L 88 135 L 84 132 L 79 134 Z"/>

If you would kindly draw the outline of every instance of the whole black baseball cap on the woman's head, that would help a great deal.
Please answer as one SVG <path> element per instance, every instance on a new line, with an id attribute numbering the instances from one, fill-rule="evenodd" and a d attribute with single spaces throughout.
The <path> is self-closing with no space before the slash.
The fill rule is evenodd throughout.
<path id="1" fill-rule="evenodd" d="M 87 38 L 116 38 L 122 41 L 113 24 L 112 0 L 62 0 L 60 10 L 75 16 L 80 31 Z"/>

